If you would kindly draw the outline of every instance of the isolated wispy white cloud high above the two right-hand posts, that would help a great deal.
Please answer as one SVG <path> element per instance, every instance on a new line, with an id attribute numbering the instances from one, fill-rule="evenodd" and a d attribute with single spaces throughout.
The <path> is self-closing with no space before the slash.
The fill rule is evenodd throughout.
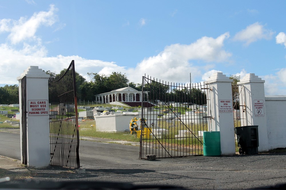
<path id="1" fill-rule="evenodd" d="M 238 32 L 233 39 L 235 41 L 243 41 L 245 42 L 245 45 L 248 46 L 249 44 L 260 39 L 269 40 L 272 38 L 273 34 L 274 32 L 265 29 L 263 25 L 257 22 Z"/>

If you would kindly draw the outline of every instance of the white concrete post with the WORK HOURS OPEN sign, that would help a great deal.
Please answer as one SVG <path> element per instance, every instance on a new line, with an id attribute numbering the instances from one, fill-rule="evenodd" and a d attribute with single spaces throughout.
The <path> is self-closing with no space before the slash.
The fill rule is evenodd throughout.
<path id="1" fill-rule="evenodd" d="M 235 154 L 235 132 L 233 123 L 232 80 L 222 72 L 210 76 L 206 81 L 210 91 L 210 109 L 213 119 L 211 131 L 220 131 L 221 155 Z"/>

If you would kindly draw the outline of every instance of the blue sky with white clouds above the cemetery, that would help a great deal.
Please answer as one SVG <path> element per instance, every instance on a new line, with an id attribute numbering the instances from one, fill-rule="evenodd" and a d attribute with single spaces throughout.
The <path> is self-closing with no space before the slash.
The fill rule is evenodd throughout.
<path id="1" fill-rule="evenodd" d="M 28 66 L 168 82 L 255 73 L 286 94 L 286 1 L 0 0 L 0 85 Z"/>

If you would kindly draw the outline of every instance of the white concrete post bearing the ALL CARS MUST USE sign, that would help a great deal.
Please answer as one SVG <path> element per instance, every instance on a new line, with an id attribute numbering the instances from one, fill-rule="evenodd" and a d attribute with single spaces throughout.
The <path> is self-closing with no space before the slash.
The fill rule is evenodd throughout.
<path id="1" fill-rule="evenodd" d="M 20 105 L 22 103 L 21 79 L 24 76 L 26 76 L 27 86 L 27 165 L 36 168 L 47 167 L 51 158 L 48 102 L 48 80 L 50 75 L 43 72 L 38 66 L 29 66 L 24 70 L 21 76 L 17 77 Z M 21 106 L 20 114 L 22 114 Z M 20 125 L 22 125 L 21 122 Z M 20 126 L 21 137 L 22 133 L 22 126 Z"/>

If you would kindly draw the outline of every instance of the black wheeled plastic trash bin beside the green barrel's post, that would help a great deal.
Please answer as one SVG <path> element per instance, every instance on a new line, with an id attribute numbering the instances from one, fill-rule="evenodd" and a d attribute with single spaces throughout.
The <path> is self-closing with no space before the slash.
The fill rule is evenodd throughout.
<path id="1" fill-rule="evenodd" d="M 258 154 L 258 125 L 236 127 L 235 134 L 240 154 Z"/>

